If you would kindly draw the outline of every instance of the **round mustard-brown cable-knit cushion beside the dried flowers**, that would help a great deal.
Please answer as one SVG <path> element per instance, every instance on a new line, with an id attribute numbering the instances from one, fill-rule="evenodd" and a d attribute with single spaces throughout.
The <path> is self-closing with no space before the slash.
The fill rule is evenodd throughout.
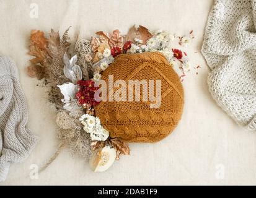
<path id="1" fill-rule="evenodd" d="M 110 137 L 126 142 L 157 142 L 174 130 L 183 112 L 183 87 L 161 53 L 121 54 L 102 72 L 102 80 L 107 85 L 108 75 L 113 75 L 114 80 L 125 80 L 126 84 L 128 80 L 155 80 L 154 93 L 156 80 L 161 80 L 159 108 L 150 108 L 150 102 L 143 100 L 101 101 L 95 106 L 95 113 Z M 140 96 L 142 92 L 141 88 Z"/>

